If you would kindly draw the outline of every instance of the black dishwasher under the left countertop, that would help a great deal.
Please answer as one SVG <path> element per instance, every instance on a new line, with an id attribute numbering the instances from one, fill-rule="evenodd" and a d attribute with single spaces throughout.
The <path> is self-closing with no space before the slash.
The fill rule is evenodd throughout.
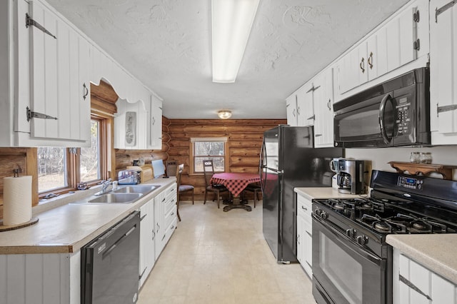
<path id="1" fill-rule="evenodd" d="M 81 304 L 136 303 L 139 228 L 135 211 L 81 248 Z"/>

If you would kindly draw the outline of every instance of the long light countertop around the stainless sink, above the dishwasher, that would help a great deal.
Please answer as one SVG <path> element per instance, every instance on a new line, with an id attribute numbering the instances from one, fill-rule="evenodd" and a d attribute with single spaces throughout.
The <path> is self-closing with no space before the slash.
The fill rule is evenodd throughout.
<path id="1" fill-rule="evenodd" d="M 0 232 L 0 254 L 77 252 L 172 183 L 176 183 L 176 178 L 155 178 L 144 183 L 160 187 L 134 203 L 84 203 L 100 190 L 94 187 L 36 206 L 32 212 L 39 218 L 38 223 Z M 82 203 L 69 203 L 76 201 Z"/>

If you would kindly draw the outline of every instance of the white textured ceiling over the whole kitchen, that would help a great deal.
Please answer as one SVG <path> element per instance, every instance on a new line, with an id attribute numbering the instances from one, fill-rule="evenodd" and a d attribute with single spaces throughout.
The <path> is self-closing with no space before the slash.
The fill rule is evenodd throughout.
<path id="1" fill-rule="evenodd" d="M 211 0 L 47 0 L 164 98 L 168 118 L 286 118 L 285 98 L 406 0 L 261 0 L 235 83 L 211 81 Z"/>

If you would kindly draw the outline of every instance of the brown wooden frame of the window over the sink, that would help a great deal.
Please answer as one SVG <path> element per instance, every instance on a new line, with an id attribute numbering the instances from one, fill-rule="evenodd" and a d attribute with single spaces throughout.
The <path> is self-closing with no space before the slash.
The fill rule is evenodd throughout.
<path id="1" fill-rule="evenodd" d="M 87 186 L 94 186 L 104 181 L 109 176 L 109 162 L 111 157 L 111 135 L 112 116 L 91 113 L 91 120 L 99 122 L 99 163 L 100 163 L 100 178 L 94 181 L 87 182 Z M 61 188 L 54 188 L 51 190 L 39 192 L 39 198 L 44 198 L 49 193 L 63 194 L 69 191 L 75 191 L 78 188 L 78 183 L 81 177 L 80 161 L 81 161 L 81 148 L 65 148 L 66 153 L 66 181 L 67 186 Z M 38 166 L 38 164 L 37 164 Z"/>

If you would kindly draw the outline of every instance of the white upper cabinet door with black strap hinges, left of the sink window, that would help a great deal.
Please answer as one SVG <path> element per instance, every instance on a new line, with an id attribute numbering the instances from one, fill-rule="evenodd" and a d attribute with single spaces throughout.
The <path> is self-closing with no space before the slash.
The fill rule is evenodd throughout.
<path id="1" fill-rule="evenodd" d="M 49 31 L 29 25 L 30 110 L 56 118 L 31 117 L 31 136 L 76 141 L 77 146 L 88 146 L 89 43 L 39 2 L 30 1 L 29 17 Z"/>

